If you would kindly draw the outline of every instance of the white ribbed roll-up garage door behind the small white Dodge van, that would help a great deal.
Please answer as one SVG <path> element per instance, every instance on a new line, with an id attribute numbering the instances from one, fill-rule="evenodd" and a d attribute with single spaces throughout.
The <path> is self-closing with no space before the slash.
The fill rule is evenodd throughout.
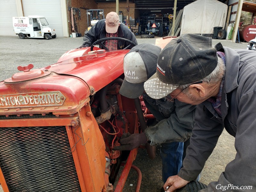
<path id="1" fill-rule="evenodd" d="M 49 23 L 49 27 L 55 29 L 57 36 L 63 37 L 60 1 L 61 0 L 22 0 L 24 16 L 44 16 Z"/>

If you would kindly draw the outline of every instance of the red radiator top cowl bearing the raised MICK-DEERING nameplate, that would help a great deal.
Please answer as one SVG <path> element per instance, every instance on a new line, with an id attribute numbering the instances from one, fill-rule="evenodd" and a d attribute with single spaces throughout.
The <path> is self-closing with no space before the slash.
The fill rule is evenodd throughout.
<path id="1" fill-rule="evenodd" d="M 75 86 L 74 86 L 75 85 Z M 74 114 L 90 95 L 89 87 L 77 77 L 52 74 L 31 81 L 0 82 L 0 115 Z"/>

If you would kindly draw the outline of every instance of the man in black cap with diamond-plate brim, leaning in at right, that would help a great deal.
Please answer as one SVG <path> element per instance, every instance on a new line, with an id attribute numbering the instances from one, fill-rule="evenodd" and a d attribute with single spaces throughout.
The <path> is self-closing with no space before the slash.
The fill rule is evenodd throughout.
<path id="1" fill-rule="evenodd" d="M 144 84 L 155 99 L 167 95 L 197 105 L 183 168 L 169 177 L 168 192 L 195 180 L 224 127 L 235 137 L 236 157 L 206 191 L 256 191 L 256 52 L 232 50 L 212 38 L 184 34 L 162 50 L 156 74 Z"/>

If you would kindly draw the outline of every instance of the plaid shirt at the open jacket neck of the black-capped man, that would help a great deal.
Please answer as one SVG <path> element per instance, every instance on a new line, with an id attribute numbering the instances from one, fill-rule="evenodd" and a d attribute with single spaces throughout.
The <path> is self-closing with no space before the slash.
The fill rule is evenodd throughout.
<path id="1" fill-rule="evenodd" d="M 217 52 L 218 56 L 224 61 L 224 64 L 226 65 L 225 62 L 225 53 L 224 52 Z M 220 91 L 217 95 L 217 98 L 215 97 L 210 97 L 207 99 L 212 103 L 212 107 L 215 109 L 215 111 L 221 116 L 221 110 L 220 110 L 220 104 L 221 104 L 221 94 L 222 94 L 222 89 L 224 86 L 224 79 L 225 79 L 225 74 L 222 77 L 221 83 L 220 83 Z"/>

